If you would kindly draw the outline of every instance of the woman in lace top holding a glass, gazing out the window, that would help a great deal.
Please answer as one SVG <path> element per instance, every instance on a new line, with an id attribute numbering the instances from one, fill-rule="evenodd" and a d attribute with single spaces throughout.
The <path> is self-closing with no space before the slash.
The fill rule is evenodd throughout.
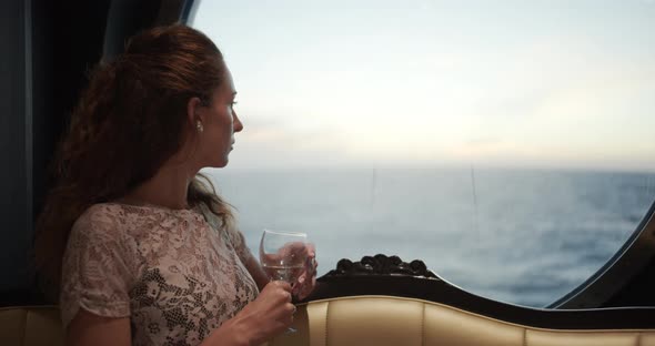
<path id="1" fill-rule="evenodd" d="M 235 94 L 214 43 L 178 24 L 93 71 L 37 223 L 68 344 L 259 345 L 292 323 L 292 293 L 314 286 L 313 248 L 293 288 L 269 282 L 198 174 L 228 164 L 243 129 Z"/>

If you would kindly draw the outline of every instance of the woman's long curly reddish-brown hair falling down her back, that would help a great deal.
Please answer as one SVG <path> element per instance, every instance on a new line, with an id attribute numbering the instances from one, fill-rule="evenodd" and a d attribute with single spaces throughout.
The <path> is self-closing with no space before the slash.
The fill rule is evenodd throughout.
<path id="1" fill-rule="evenodd" d="M 185 141 L 187 104 L 224 79 L 216 45 L 192 28 L 174 24 L 141 32 L 123 54 L 101 61 L 73 109 L 53 161 L 57 183 L 36 223 L 34 264 L 46 295 L 59 295 L 61 262 L 75 220 L 92 204 L 119 199 L 150 180 Z M 209 179 L 189 185 L 189 205 L 205 204 L 233 222 Z"/>

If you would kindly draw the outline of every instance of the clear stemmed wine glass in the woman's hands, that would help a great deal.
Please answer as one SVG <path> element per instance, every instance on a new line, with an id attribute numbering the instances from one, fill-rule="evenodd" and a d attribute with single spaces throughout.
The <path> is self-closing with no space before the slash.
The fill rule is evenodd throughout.
<path id="1" fill-rule="evenodd" d="M 284 281 L 292 287 L 305 269 L 308 261 L 305 233 L 264 230 L 260 243 L 260 263 L 272 281 Z M 288 328 L 286 333 L 294 333 Z"/>

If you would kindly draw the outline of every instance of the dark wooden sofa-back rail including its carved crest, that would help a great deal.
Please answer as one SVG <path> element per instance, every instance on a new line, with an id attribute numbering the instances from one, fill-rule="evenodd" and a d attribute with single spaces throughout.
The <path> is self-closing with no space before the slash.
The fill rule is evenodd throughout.
<path id="1" fill-rule="evenodd" d="M 653 329 L 655 307 L 544 309 L 493 301 L 468 293 L 436 276 L 421 261 L 397 256 L 341 260 L 336 269 L 316 279 L 316 288 L 302 302 L 344 296 L 386 295 L 436 302 L 500 320 L 556 329 Z"/>

